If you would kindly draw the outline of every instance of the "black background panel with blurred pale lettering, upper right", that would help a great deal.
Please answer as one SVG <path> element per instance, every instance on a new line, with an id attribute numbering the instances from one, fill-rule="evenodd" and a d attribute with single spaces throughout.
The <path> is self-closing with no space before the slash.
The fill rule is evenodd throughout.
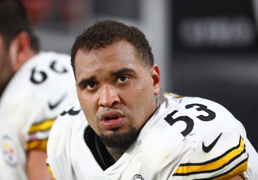
<path id="1" fill-rule="evenodd" d="M 174 0 L 175 49 L 252 49 L 257 33 L 250 0 Z"/>

